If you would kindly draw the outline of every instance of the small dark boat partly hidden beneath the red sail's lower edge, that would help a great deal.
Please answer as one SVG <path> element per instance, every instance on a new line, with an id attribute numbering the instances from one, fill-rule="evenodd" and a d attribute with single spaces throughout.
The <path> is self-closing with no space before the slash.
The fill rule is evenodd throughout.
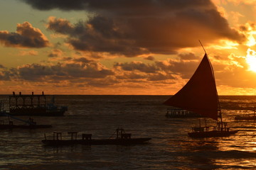
<path id="1" fill-rule="evenodd" d="M 184 109 L 170 108 L 170 109 L 167 109 L 166 117 L 167 118 L 201 118 L 203 116 L 197 113 L 193 113 L 191 111 L 186 111 Z"/>

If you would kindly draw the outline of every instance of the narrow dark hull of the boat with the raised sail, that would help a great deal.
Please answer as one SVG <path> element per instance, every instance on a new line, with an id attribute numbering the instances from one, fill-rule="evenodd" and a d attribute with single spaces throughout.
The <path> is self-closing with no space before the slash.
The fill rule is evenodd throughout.
<path id="1" fill-rule="evenodd" d="M 230 131 L 208 131 L 208 132 L 188 132 L 189 137 L 227 137 L 230 135 L 234 135 L 238 130 L 230 130 Z"/>

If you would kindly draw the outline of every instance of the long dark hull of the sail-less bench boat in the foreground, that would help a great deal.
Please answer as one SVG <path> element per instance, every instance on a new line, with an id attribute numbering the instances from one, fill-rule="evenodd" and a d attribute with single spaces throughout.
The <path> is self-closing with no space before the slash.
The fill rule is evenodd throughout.
<path id="1" fill-rule="evenodd" d="M 63 145 L 139 145 L 151 140 L 151 138 L 134 139 L 106 139 L 106 140 L 42 140 L 47 146 Z"/>

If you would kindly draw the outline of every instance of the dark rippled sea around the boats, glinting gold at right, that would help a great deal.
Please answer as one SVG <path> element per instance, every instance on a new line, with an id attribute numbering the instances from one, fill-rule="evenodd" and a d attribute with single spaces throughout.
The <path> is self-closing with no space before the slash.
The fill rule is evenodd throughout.
<path id="1" fill-rule="evenodd" d="M 0 96 L 8 103 L 8 96 Z M 166 118 L 162 103 L 169 96 L 55 96 L 68 106 L 63 117 L 33 117 L 53 128 L 1 130 L 0 169 L 256 169 L 256 122 L 234 120 L 250 114 L 256 96 L 220 96 L 223 120 L 230 137 L 188 137 L 198 118 Z M 19 117 L 28 120 L 28 117 Z M 8 118 L 1 117 L 8 121 Z M 15 124 L 23 124 L 14 120 Z M 208 120 L 209 124 L 215 123 Z M 92 138 L 109 138 L 122 127 L 132 137 L 151 137 L 146 145 L 45 147 L 44 134 L 78 131 Z"/>

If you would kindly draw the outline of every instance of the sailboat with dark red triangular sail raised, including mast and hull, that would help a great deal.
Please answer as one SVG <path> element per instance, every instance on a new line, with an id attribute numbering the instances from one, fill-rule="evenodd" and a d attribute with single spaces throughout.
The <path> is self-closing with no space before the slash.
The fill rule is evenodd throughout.
<path id="1" fill-rule="evenodd" d="M 213 67 L 210 64 L 206 50 L 204 48 L 203 50 L 205 51 L 203 60 L 191 79 L 164 104 L 183 108 L 203 115 L 205 118 L 217 120 L 217 126 L 213 127 L 213 130 L 210 130 L 210 127 L 207 126 L 201 127 L 201 123 L 199 127 L 192 128 L 193 132 L 188 132 L 190 137 L 225 137 L 233 135 L 238 130 L 230 130 L 227 123 L 223 123 Z"/>

